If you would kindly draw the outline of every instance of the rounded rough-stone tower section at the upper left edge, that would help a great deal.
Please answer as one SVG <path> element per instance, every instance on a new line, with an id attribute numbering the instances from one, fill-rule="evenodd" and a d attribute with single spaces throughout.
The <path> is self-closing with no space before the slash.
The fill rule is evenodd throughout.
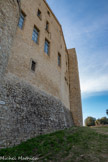
<path id="1" fill-rule="evenodd" d="M 19 18 L 19 1 L 0 0 L 0 83 L 4 76 Z M 1 85 L 1 84 L 0 84 Z"/>

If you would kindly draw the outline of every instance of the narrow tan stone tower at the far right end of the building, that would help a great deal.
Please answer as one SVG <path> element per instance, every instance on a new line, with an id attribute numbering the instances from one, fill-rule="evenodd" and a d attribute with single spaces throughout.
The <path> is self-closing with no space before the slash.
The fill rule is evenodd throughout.
<path id="1" fill-rule="evenodd" d="M 75 49 L 68 50 L 69 54 L 69 80 L 70 80 L 70 111 L 74 124 L 82 126 L 82 104 L 80 94 L 80 82 L 78 72 L 78 62 Z"/>

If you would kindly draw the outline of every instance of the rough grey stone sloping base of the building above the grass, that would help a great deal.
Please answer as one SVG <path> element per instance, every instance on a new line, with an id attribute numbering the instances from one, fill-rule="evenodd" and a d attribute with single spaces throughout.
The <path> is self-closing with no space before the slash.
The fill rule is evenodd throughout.
<path id="1" fill-rule="evenodd" d="M 70 111 L 57 98 L 15 76 L 5 78 L 0 92 L 0 148 L 73 125 Z"/>

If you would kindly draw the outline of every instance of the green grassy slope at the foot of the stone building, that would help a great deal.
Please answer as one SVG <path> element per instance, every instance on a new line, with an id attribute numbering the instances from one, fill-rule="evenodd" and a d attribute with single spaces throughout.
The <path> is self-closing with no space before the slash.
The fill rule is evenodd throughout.
<path id="1" fill-rule="evenodd" d="M 92 128 L 72 127 L 2 149 L 0 156 L 38 157 L 42 162 L 108 162 L 108 136 Z"/>

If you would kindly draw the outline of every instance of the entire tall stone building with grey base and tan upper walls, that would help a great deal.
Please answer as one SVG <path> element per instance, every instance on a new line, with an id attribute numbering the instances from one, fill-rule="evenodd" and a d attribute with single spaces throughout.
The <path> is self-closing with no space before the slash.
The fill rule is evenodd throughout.
<path id="1" fill-rule="evenodd" d="M 62 27 L 47 2 L 21 0 L 19 5 L 1 0 L 0 13 L 6 42 L 1 40 L 0 52 L 1 147 L 81 126 L 76 52 L 67 49 Z"/>

